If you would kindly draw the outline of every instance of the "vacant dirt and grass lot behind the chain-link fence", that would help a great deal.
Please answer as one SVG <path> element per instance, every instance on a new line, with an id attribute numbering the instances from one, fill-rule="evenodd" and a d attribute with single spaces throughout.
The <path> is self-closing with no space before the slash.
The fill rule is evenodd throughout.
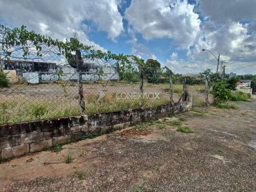
<path id="1" fill-rule="evenodd" d="M 65 86 L 66 85 L 66 86 Z M 0 89 L 0 124 L 31 121 L 78 114 L 78 88 L 76 83 L 67 84 L 19 84 Z M 145 99 L 144 107 L 154 107 L 169 103 L 169 84 L 145 83 L 144 93 L 157 93 L 157 99 Z M 109 82 L 102 84 L 83 84 L 85 113 L 100 113 L 114 110 L 138 108 L 139 84 Z M 173 85 L 173 100 L 178 102 L 182 94 L 182 84 Z M 188 86 L 193 95 L 193 106 L 204 105 L 204 84 Z M 98 100 L 101 94 L 106 97 Z M 117 93 L 135 93 L 135 98 L 116 98 Z M 137 95 L 136 95 L 137 94 Z M 152 95 L 151 95 L 152 98 Z M 209 95 L 212 102 L 212 96 Z"/>

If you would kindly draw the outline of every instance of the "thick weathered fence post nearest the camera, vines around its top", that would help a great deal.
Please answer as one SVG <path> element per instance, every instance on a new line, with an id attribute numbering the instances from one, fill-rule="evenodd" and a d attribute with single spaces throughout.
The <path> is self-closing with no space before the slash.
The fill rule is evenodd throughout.
<path id="1" fill-rule="evenodd" d="M 79 114 L 84 114 L 85 104 L 83 95 L 83 84 L 80 81 L 80 66 L 83 64 L 80 49 L 76 49 L 76 75 L 77 75 L 77 87 L 78 87 L 78 110 Z"/>

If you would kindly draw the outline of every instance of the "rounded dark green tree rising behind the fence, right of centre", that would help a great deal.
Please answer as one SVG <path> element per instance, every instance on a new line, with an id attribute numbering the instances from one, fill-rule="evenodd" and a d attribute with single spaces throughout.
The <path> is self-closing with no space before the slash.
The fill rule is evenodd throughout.
<path id="1" fill-rule="evenodd" d="M 150 83 L 157 83 L 161 77 L 161 64 L 154 59 L 148 59 L 143 68 L 144 77 Z"/>

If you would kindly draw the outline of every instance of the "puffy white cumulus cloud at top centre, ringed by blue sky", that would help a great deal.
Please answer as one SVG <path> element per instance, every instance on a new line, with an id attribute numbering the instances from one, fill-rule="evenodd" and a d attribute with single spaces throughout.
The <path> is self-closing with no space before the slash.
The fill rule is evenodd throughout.
<path id="1" fill-rule="evenodd" d="M 132 0 L 125 17 L 145 39 L 171 38 L 180 48 L 188 49 L 201 22 L 193 8 L 187 0 Z"/>

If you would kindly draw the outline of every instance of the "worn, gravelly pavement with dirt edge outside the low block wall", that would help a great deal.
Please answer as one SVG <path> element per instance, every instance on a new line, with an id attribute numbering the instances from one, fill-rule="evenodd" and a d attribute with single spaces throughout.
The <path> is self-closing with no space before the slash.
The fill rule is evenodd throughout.
<path id="1" fill-rule="evenodd" d="M 236 105 L 183 114 L 192 134 L 170 126 L 177 116 L 146 124 L 146 136 L 117 131 L 3 162 L 0 190 L 256 191 L 256 101 Z"/>

